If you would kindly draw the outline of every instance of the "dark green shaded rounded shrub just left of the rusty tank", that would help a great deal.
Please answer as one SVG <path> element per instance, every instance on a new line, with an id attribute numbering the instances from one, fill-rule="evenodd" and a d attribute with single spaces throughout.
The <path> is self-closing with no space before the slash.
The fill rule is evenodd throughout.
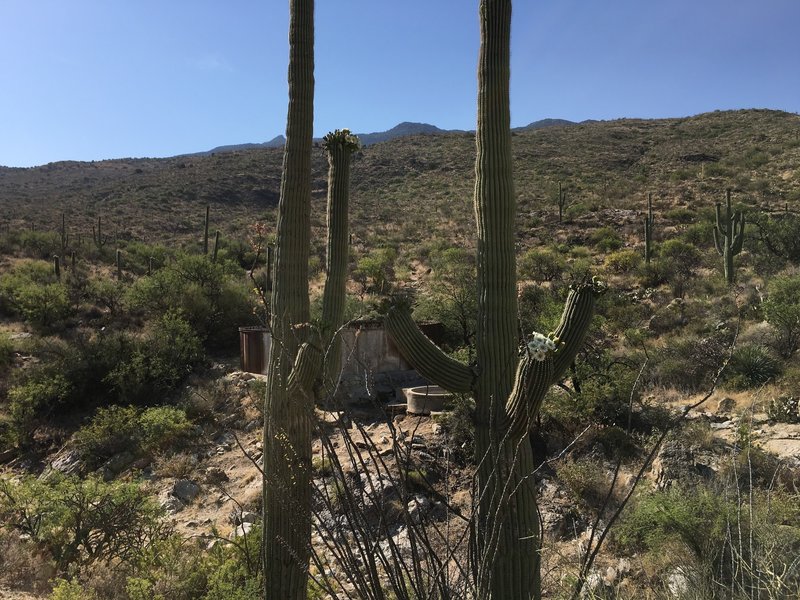
<path id="1" fill-rule="evenodd" d="M 125 360 L 106 376 L 117 400 L 147 404 L 173 392 L 203 358 L 200 339 L 176 312 L 152 323 L 142 339 L 135 340 Z"/>

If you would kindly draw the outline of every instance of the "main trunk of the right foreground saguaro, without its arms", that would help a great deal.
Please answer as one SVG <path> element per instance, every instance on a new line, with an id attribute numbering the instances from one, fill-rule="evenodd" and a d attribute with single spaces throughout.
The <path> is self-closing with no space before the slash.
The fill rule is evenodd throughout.
<path id="1" fill-rule="evenodd" d="M 475 385 L 481 597 L 539 596 L 539 517 L 531 446 L 504 436 L 506 399 L 519 361 L 514 249 L 516 201 L 509 110 L 511 1 L 483 0 L 478 62 L 475 215 L 478 319 Z M 481 547 L 482 546 L 482 547 Z"/>

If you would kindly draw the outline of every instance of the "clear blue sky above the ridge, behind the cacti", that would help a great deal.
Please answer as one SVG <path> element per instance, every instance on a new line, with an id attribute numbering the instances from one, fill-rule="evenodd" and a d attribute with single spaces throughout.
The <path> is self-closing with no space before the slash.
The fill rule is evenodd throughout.
<path id="1" fill-rule="evenodd" d="M 315 135 L 475 126 L 477 0 L 317 0 Z M 284 132 L 286 0 L 0 0 L 0 165 Z M 512 125 L 800 112 L 800 0 L 517 0 Z"/>

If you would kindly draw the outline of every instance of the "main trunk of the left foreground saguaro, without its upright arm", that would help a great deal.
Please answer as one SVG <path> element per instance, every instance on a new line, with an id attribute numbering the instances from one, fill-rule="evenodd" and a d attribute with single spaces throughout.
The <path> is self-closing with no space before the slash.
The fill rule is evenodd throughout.
<path id="1" fill-rule="evenodd" d="M 311 425 L 303 377 L 308 335 L 314 2 L 290 0 L 289 111 L 278 204 L 272 351 L 264 407 L 264 597 L 304 600 L 311 537 Z M 297 385 L 297 383 L 300 385 Z"/>

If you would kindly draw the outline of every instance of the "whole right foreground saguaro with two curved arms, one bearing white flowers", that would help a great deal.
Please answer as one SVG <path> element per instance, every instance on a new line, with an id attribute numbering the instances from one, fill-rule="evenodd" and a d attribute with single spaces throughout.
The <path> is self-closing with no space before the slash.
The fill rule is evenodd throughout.
<path id="1" fill-rule="evenodd" d="M 390 311 L 385 324 L 423 376 L 448 390 L 474 395 L 479 466 L 472 564 L 478 597 L 531 600 L 541 597 L 541 532 L 527 434 L 547 390 L 575 358 L 603 286 L 575 286 L 554 334 L 534 334 L 520 349 L 508 96 L 511 0 L 481 0 L 480 25 L 476 365 L 466 366 L 444 354 L 414 326 L 402 306 Z"/>

